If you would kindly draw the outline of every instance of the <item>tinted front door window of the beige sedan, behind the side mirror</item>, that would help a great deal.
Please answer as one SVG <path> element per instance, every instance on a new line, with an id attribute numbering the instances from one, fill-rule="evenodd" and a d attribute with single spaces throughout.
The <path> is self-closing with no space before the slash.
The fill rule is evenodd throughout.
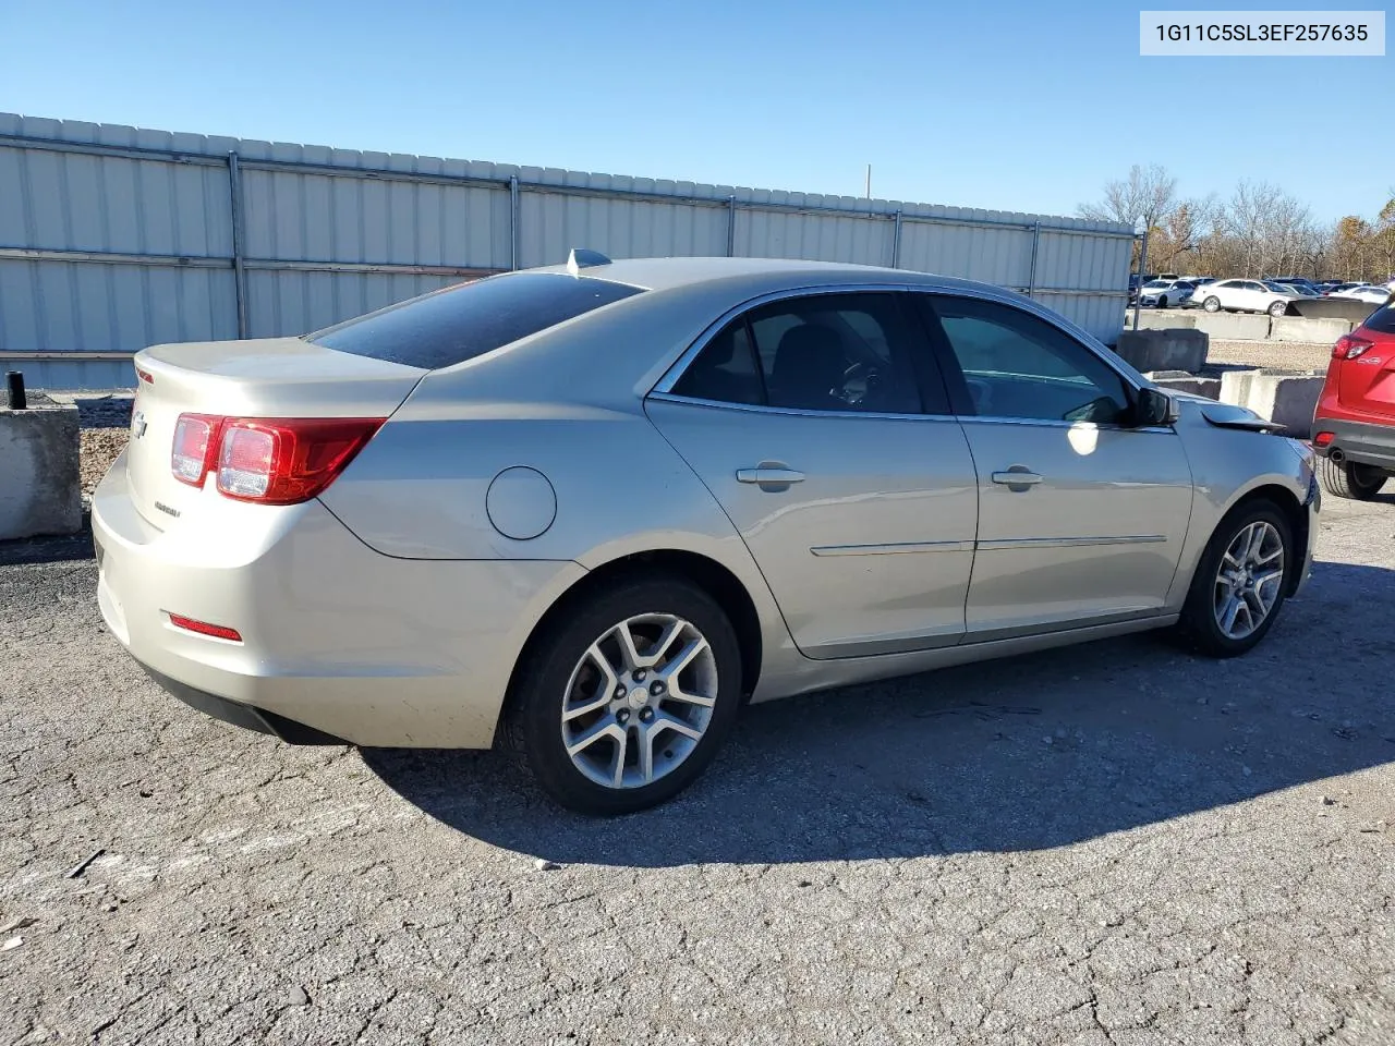
<path id="1" fill-rule="evenodd" d="M 1099 424 L 1124 420 L 1123 378 L 1046 321 L 975 298 L 936 297 L 935 312 L 976 414 Z"/>

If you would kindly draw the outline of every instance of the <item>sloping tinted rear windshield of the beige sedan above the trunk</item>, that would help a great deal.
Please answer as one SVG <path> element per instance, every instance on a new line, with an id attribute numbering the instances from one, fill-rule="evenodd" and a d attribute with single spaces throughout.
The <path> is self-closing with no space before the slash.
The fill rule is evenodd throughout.
<path id="1" fill-rule="evenodd" d="M 434 290 L 306 338 L 354 356 L 437 370 L 642 293 L 642 287 L 527 272 Z"/>

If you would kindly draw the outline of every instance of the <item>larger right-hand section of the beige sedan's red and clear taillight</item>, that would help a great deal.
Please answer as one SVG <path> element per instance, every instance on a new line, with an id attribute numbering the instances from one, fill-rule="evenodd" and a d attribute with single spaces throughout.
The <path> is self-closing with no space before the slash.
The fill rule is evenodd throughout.
<path id="1" fill-rule="evenodd" d="M 232 418 L 223 424 L 218 490 L 237 501 L 294 505 L 319 495 L 384 418 Z"/>

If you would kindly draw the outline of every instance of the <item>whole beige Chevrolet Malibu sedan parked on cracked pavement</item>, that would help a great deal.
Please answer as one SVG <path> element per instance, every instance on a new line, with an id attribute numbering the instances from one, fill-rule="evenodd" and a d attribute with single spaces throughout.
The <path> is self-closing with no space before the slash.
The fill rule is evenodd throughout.
<path id="1" fill-rule="evenodd" d="M 593 813 L 675 795 L 746 702 L 1143 629 L 1242 654 L 1317 533 L 1304 445 L 901 269 L 575 251 L 135 368 L 98 600 L 165 689 L 501 743 Z"/>

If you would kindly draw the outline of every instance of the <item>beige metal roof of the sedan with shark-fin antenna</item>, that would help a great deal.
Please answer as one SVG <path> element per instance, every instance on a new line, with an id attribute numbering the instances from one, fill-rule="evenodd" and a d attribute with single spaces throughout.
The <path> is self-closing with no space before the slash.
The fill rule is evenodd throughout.
<path id="1" fill-rule="evenodd" d="M 566 265 L 547 265 L 530 272 L 571 273 Z M 937 276 L 911 269 L 848 262 L 794 261 L 787 258 L 619 258 L 586 265 L 576 276 L 628 283 L 644 290 L 678 290 L 704 283 L 724 283 L 730 290 L 751 296 L 784 287 L 834 283 L 897 283 L 940 290 L 992 290 L 1020 297 L 1002 286 Z"/>

